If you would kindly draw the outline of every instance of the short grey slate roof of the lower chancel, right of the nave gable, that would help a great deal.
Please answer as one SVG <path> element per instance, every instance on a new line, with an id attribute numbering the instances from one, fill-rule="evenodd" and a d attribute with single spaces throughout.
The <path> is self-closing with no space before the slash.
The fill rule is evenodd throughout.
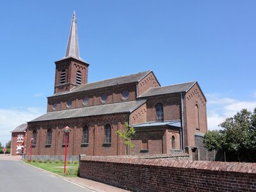
<path id="1" fill-rule="evenodd" d="M 170 93 L 188 92 L 188 90 L 196 83 L 191 81 L 188 83 L 173 84 L 170 86 L 160 86 L 156 88 L 150 88 L 147 92 L 143 93 L 140 97 L 150 97 L 155 95 L 164 95 Z"/>

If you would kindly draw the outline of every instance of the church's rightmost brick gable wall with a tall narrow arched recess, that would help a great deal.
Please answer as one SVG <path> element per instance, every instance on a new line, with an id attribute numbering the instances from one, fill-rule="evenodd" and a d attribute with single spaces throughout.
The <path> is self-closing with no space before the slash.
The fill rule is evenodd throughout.
<path id="1" fill-rule="evenodd" d="M 186 107 L 184 108 L 186 113 L 186 116 L 184 116 L 186 125 L 184 126 L 186 129 L 185 138 L 188 138 L 188 140 L 185 140 L 185 142 L 188 142 L 185 145 L 195 146 L 195 132 L 207 132 L 206 100 L 197 83 L 186 93 L 184 102 L 186 102 Z M 196 123 L 196 104 L 199 108 L 199 127 Z"/>

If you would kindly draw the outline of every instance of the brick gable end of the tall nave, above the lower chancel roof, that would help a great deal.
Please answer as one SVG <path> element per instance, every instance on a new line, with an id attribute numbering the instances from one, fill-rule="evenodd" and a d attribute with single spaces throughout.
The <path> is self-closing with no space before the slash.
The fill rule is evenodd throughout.
<path id="1" fill-rule="evenodd" d="M 158 83 L 156 76 L 154 76 L 153 72 L 150 72 L 138 83 L 138 97 L 140 97 L 141 94 L 147 92 L 149 88 L 157 86 L 160 86 L 160 84 Z"/>

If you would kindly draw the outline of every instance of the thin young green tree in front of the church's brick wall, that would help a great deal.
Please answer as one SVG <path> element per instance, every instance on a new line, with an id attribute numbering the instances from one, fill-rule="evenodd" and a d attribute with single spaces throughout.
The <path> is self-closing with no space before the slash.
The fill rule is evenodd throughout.
<path id="1" fill-rule="evenodd" d="M 130 127 L 127 122 L 124 123 L 125 128 L 124 131 L 118 130 L 116 133 L 118 136 L 124 139 L 124 147 L 125 147 L 125 156 L 127 156 L 127 146 L 133 148 L 134 145 L 131 141 L 132 136 L 135 134 L 135 130 L 133 127 Z"/>

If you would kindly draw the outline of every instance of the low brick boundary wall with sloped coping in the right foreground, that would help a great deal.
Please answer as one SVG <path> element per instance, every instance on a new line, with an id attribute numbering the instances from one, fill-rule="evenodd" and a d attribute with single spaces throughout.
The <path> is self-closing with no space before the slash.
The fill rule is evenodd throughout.
<path id="1" fill-rule="evenodd" d="M 79 174 L 131 191 L 256 191 L 256 163 L 85 156 Z"/>

